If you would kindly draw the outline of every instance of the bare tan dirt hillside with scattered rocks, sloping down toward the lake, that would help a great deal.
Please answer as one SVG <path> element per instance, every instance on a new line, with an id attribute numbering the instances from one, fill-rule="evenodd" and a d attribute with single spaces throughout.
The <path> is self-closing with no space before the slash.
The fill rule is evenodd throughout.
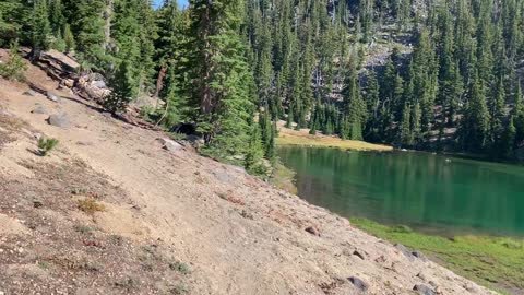
<path id="1" fill-rule="evenodd" d="M 490 294 L 240 168 L 163 150 L 166 134 L 69 91 L 55 103 L 27 90 L 0 79 L 0 294 Z M 60 140 L 50 156 L 36 133 Z"/>

